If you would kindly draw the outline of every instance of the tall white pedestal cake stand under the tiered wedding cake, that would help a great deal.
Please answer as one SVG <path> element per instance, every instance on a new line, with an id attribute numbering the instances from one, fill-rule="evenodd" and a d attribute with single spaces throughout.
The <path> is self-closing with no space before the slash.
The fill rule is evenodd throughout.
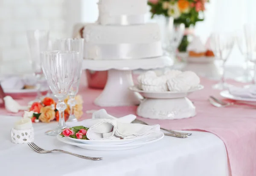
<path id="1" fill-rule="evenodd" d="M 108 81 L 94 104 L 100 107 L 130 106 L 140 104 L 143 97 L 131 92 L 134 85 L 132 70 L 157 69 L 172 66 L 173 60 L 168 56 L 134 60 L 88 60 L 83 61 L 83 69 L 94 71 L 108 70 Z"/>

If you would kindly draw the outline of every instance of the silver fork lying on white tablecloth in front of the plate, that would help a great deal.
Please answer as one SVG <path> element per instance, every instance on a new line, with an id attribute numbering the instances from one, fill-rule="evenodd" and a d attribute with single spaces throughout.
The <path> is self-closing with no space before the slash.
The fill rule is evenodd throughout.
<path id="1" fill-rule="evenodd" d="M 67 153 L 67 154 L 70 154 L 70 155 L 73 155 L 73 156 L 77 156 L 79 158 L 82 158 L 82 159 L 89 159 L 89 160 L 93 160 L 93 161 L 97 161 L 97 160 L 102 160 L 103 158 L 95 158 L 95 157 L 90 157 L 90 156 L 82 156 L 82 155 L 79 155 L 79 154 L 75 154 L 75 153 L 71 153 L 71 152 L 67 152 L 67 151 L 64 151 L 64 150 L 59 150 L 59 149 L 54 149 L 54 150 L 44 150 L 42 149 L 41 147 L 39 147 L 38 145 L 36 145 L 35 143 L 31 142 L 31 143 L 28 143 L 29 147 L 32 148 L 35 152 L 37 153 L 50 153 L 50 152 L 53 152 L 53 151 L 57 151 L 57 152 L 62 152 L 62 153 Z"/>

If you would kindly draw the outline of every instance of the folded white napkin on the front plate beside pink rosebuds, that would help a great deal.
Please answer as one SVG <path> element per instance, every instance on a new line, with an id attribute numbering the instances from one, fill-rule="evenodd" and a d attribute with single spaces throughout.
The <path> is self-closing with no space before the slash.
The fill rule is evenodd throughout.
<path id="1" fill-rule="evenodd" d="M 102 109 L 93 113 L 92 119 L 76 122 L 72 125 L 89 127 L 86 136 L 90 140 L 137 138 L 160 131 L 159 125 L 131 124 L 135 118 L 135 115 L 115 118 Z"/>

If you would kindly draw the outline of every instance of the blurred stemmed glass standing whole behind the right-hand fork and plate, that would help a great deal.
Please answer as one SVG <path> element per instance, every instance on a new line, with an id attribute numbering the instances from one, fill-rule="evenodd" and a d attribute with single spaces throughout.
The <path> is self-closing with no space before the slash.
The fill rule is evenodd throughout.
<path id="1" fill-rule="evenodd" d="M 215 58 L 221 61 L 221 81 L 218 84 L 212 86 L 213 89 L 228 89 L 230 84 L 225 82 L 225 63 L 229 57 L 233 46 L 235 38 L 233 34 L 230 33 L 213 33 L 210 37 L 210 45 L 212 51 L 215 54 Z"/>

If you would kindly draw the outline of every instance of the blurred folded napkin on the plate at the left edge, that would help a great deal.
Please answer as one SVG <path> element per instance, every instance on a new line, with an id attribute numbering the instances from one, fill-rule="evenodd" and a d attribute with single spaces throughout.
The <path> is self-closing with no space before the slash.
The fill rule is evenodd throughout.
<path id="1" fill-rule="evenodd" d="M 11 76 L 6 78 L 1 78 L 0 84 L 3 90 L 7 89 L 22 89 L 24 87 L 24 81 L 18 76 Z"/>

